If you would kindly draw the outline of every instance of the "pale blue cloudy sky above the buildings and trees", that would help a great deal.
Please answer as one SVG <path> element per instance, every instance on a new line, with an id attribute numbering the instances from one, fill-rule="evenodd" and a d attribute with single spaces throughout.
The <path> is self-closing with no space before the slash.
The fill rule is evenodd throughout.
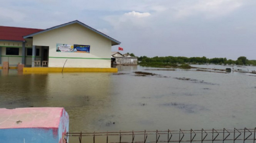
<path id="1" fill-rule="evenodd" d="M 256 0 L 0 0 L 0 25 L 79 20 L 136 56 L 256 59 Z"/>

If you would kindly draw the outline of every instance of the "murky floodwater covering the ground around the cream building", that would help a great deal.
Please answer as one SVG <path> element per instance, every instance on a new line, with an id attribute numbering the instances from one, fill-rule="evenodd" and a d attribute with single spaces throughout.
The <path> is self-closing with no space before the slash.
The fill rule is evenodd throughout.
<path id="1" fill-rule="evenodd" d="M 256 127 L 256 74 L 118 68 L 126 74 L 0 70 L 0 108 L 64 107 L 69 132 Z M 134 76 L 136 71 L 158 75 Z"/>

